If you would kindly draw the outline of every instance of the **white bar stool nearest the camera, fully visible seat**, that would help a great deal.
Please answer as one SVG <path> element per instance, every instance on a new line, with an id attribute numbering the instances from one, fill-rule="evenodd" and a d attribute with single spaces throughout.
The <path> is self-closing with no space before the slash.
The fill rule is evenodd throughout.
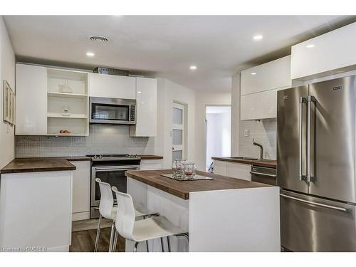
<path id="1" fill-rule="evenodd" d="M 112 187 L 116 194 L 118 211 L 115 221 L 115 228 L 118 234 L 125 239 L 135 242 L 134 252 L 137 251 L 139 242 L 151 239 L 161 239 L 162 251 L 163 238 L 167 237 L 168 250 L 170 251 L 169 236 L 185 236 L 189 241 L 187 231 L 175 226 L 164 216 L 150 217 L 140 221 L 135 220 L 135 207 L 130 194 L 118 192 L 116 187 Z M 115 233 L 115 241 L 117 233 Z M 146 243 L 147 244 L 147 243 Z"/>

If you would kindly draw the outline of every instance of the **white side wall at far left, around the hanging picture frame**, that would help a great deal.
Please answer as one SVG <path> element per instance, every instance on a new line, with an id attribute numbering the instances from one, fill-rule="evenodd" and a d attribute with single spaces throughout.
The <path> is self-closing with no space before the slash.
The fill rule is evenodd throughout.
<path id="1" fill-rule="evenodd" d="M 4 20 L 0 16 L 0 169 L 15 155 L 14 127 L 3 120 L 3 83 L 7 80 L 15 91 L 15 54 Z"/>

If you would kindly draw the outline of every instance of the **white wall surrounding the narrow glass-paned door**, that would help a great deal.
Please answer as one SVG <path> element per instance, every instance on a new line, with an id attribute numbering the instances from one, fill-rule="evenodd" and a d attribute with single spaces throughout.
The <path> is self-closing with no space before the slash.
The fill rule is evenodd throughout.
<path id="1" fill-rule="evenodd" d="M 185 158 L 195 160 L 195 92 L 165 78 L 157 78 L 158 123 L 155 154 L 163 156 L 163 167 L 172 167 L 172 109 L 174 101 L 186 105 Z"/>

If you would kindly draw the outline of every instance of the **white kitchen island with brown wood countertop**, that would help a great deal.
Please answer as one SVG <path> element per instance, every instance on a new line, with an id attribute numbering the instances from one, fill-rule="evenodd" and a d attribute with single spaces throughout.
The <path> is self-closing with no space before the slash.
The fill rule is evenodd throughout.
<path id="1" fill-rule="evenodd" d="M 171 170 L 127 171 L 127 193 L 189 233 L 172 251 L 280 251 L 279 188 L 197 172 L 210 180 L 177 181 Z M 167 243 L 164 243 L 167 251 Z M 126 251 L 133 243 L 126 241 Z M 150 241 L 150 251 L 160 251 Z M 138 251 L 146 251 L 139 244 Z"/>

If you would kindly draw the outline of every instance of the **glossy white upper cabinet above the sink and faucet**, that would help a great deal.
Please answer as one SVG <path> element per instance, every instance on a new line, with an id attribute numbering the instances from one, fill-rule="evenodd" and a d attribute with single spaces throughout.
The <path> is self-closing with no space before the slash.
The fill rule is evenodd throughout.
<path id="1" fill-rule="evenodd" d="M 277 117 L 276 91 L 290 87 L 290 56 L 241 71 L 241 120 Z"/>

